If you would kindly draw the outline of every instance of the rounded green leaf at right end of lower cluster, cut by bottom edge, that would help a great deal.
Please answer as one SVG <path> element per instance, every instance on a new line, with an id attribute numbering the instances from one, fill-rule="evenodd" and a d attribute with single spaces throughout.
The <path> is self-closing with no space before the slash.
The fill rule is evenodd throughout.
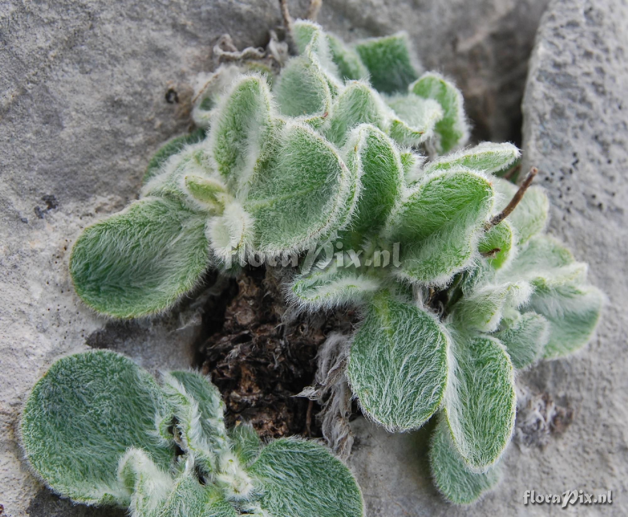
<path id="1" fill-rule="evenodd" d="M 315 442 L 274 440 L 248 469 L 259 479 L 261 508 L 273 517 L 362 517 L 362 494 L 349 469 Z"/>

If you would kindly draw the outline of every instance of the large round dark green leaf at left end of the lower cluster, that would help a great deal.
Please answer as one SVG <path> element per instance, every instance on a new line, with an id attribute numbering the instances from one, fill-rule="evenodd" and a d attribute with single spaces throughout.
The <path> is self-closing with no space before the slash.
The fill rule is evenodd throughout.
<path id="1" fill-rule="evenodd" d="M 121 393 L 123 393 L 122 378 L 125 378 L 129 383 L 136 384 L 132 391 L 138 395 L 138 398 L 139 394 L 142 394 L 142 409 L 148 407 L 149 403 L 151 403 L 150 401 L 152 401 L 152 410 L 154 411 L 153 415 L 149 415 L 149 418 L 144 418 L 143 422 L 139 422 L 140 425 L 137 427 L 131 425 L 133 432 L 137 434 L 133 439 L 122 440 L 122 445 L 120 445 L 117 439 L 106 440 L 101 438 L 97 439 L 95 444 L 89 447 L 87 462 L 94 459 L 96 453 L 99 452 L 96 449 L 99 448 L 102 456 L 102 459 L 100 459 L 100 467 L 104 466 L 105 470 L 108 469 L 107 472 L 102 471 L 101 474 L 102 476 L 109 477 L 109 481 L 101 479 L 100 481 L 102 482 L 95 477 L 101 474 L 96 474 L 98 469 L 94 465 L 87 469 L 87 473 L 78 472 L 75 478 L 72 478 L 72 475 L 68 476 L 68 473 L 72 471 L 71 467 L 66 466 L 65 469 L 59 468 L 60 464 L 63 464 L 63 461 L 58 457 L 63 451 L 63 437 L 60 437 L 60 434 L 57 432 L 58 429 L 51 424 L 55 427 L 56 434 L 48 439 L 44 439 L 41 434 L 42 432 L 46 432 L 44 424 L 46 424 L 47 417 L 45 417 L 45 412 L 53 413 L 55 418 L 61 417 L 63 418 L 63 422 L 73 424 L 72 440 L 67 440 L 68 447 L 66 456 L 71 458 L 72 462 L 78 462 L 81 469 L 85 469 L 86 460 L 85 458 L 80 459 L 82 457 L 82 451 L 77 445 L 80 443 L 77 442 L 77 437 L 81 431 L 77 422 L 81 424 L 86 422 L 87 418 L 85 415 L 91 415 L 92 419 L 99 417 L 94 407 L 90 407 L 89 410 L 87 410 L 86 406 L 87 396 L 89 395 L 87 388 L 99 389 L 97 383 L 94 381 L 94 376 L 97 375 L 98 371 L 92 370 L 94 365 L 100 370 L 104 368 L 109 372 L 110 375 L 107 376 L 106 379 L 102 378 L 104 383 L 109 383 L 111 378 L 117 378 L 116 388 L 110 390 L 111 393 L 109 393 L 109 397 L 102 398 L 107 393 L 104 390 L 98 392 L 99 397 L 102 398 L 101 402 L 106 402 L 109 406 L 116 405 L 115 401 L 117 397 L 120 397 Z M 111 375 L 112 371 L 117 377 Z M 64 388 L 60 375 L 62 377 L 65 376 L 66 380 L 69 381 L 69 386 L 65 386 Z M 85 378 L 89 379 L 89 381 L 85 382 L 84 385 L 75 386 L 78 381 L 85 380 Z M 141 389 L 138 388 L 138 386 L 141 386 Z M 41 390 L 44 391 L 41 392 Z M 67 397 L 67 395 L 64 395 L 65 392 L 80 392 L 80 397 Z M 55 409 L 55 406 L 50 400 L 51 397 L 62 397 L 57 403 L 63 403 L 63 407 Z M 72 401 L 77 407 L 68 407 L 68 401 Z M 129 404 L 126 398 L 125 402 L 128 406 Z M 81 404 L 84 406 L 81 418 L 68 416 L 70 410 L 80 408 Z M 115 425 L 110 425 L 111 429 L 115 429 L 116 432 L 119 433 L 122 432 L 124 425 L 129 428 L 129 420 L 133 418 L 137 420 L 138 418 L 137 411 L 131 411 L 126 415 L 127 418 L 122 418 L 122 416 L 124 416 L 123 409 L 124 404 L 121 404 L 121 406 L 116 407 L 115 410 L 107 410 L 106 412 L 107 415 L 114 415 L 119 420 L 119 422 L 114 422 Z M 151 458 L 156 462 L 157 466 L 168 468 L 174 458 L 174 449 L 169 442 L 160 436 L 158 427 L 161 424 L 161 420 L 168 418 L 169 411 L 170 407 L 153 377 L 126 356 L 114 351 L 102 349 L 73 353 L 56 360 L 50 365 L 46 373 L 36 381 L 33 388 L 31 388 L 20 415 L 19 442 L 24 450 L 24 456 L 33 471 L 45 482 L 46 486 L 50 487 L 55 493 L 68 497 L 75 502 L 85 504 L 129 504 L 131 502 L 131 493 L 117 476 L 119 459 L 123 456 L 127 448 L 140 446 L 142 449 L 151 453 Z M 141 414 L 141 411 L 139 411 L 139 413 Z M 65 417 L 63 415 L 65 415 Z M 58 424 L 61 425 L 62 422 Z M 35 425 L 35 427 L 33 427 L 33 425 Z M 102 425 L 89 425 L 89 429 L 84 429 L 84 435 L 93 434 L 94 429 L 102 429 Z M 126 432 L 126 430 L 124 432 Z M 119 437 L 120 436 L 116 438 Z M 142 441 L 136 440 L 139 437 L 142 438 Z M 87 441 L 89 442 L 89 440 Z M 51 457 L 50 447 L 55 449 L 54 454 L 57 454 L 57 459 L 54 460 L 51 466 L 48 466 L 50 468 L 46 471 L 46 462 L 48 462 Z M 85 445 L 82 447 L 85 448 Z M 106 449 L 111 450 L 107 451 L 107 454 L 104 454 Z M 45 451 L 45 457 L 43 459 L 36 459 L 36 456 L 40 455 L 41 450 Z M 103 459 L 106 460 L 104 464 L 102 464 Z M 109 463 L 108 465 L 106 464 L 107 462 Z M 92 481 L 90 481 L 90 476 L 94 478 Z M 62 479 L 63 477 L 67 477 L 67 479 L 64 481 Z M 107 482 L 109 482 L 109 488 L 106 486 Z M 72 484 L 74 486 L 72 486 Z M 87 486 L 87 488 L 85 488 L 87 491 L 83 493 L 83 489 L 77 488 L 77 486 Z M 98 493 L 89 493 L 89 490 L 92 488 Z"/>

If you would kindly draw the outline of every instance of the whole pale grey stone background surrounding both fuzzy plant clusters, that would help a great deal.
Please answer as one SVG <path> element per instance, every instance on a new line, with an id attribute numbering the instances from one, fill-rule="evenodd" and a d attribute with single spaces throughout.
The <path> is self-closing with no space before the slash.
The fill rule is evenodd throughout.
<path id="1" fill-rule="evenodd" d="M 609 295 L 589 346 L 519 379 L 527 402 L 504 481 L 475 506 L 454 507 L 436 494 L 425 432 L 387 435 L 355 420 L 350 465 L 371 517 L 628 514 L 628 7 L 622 0 L 553 0 L 532 51 L 546 4 L 323 0 L 319 21 L 347 40 L 407 30 L 426 68 L 463 88 L 477 139 L 517 141 L 523 112 L 525 165 L 539 166 L 548 188 L 551 232 L 591 264 L 593 282 Z M 291 8 L 295 16 L 304 13 L 305 0 Z M 240 47 L 264 45 L 278 24 L 275 0 L 0 3 L 4 514 L 114 514 L 59 500 L 29 474 L 15 434 L 24 395 L 51 361 L 85 343 L 124 351 L 151 370 L 188 366 L 198 311 L 190 301 L 154 321 L 117 324 L 94 316 L 73 293 L 67 250 L 81 228 L 137 195 L 151 153 L 187 129 L 191 85 L 214 66 L 216 38 L 229 33 Z M 166 102 L 169 88 L 178 103 Z M 566 511 L 522 504 L 526 489 L 572 488 L 612 489 L 614 503 Z"/>

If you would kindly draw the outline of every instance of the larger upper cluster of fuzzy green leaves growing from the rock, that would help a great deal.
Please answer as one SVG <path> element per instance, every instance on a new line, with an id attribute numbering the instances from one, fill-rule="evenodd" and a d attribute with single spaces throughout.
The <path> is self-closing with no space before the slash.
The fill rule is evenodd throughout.
<path id="1" fill-rule="evenodd" d="M 421 70 L 407 36 L 349 46 L 297 21 L 291 39 L 278 73 L 228 65 L 207 81 L 205 132 L 168 142 L 139 200 L 78 238 L 75 288 L 99 312 L 144 316 L 208 267 L 300 257 L 288 302 L 362 310 L 346 365 L 362 412 L 399 431 L 437 415 L 436 486 L 474 501 L 511 439 L 516 371 L 587 343 L 602 295 L 544 232 L 534 174 L 500 178 L 519 150 L 463 147 L 461 93 Z"/>

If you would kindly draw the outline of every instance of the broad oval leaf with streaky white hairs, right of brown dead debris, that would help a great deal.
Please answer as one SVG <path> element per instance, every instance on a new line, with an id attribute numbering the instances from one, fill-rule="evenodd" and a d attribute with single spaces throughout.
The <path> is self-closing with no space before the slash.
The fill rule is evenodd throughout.
<path id="1" fill-rule="evenodd" d="M 436 318 L 380 292 L 350 345 L 347 375 L 360 406 L 387 429 L 413 429 L 440 405 L 448 338 Z"/>

